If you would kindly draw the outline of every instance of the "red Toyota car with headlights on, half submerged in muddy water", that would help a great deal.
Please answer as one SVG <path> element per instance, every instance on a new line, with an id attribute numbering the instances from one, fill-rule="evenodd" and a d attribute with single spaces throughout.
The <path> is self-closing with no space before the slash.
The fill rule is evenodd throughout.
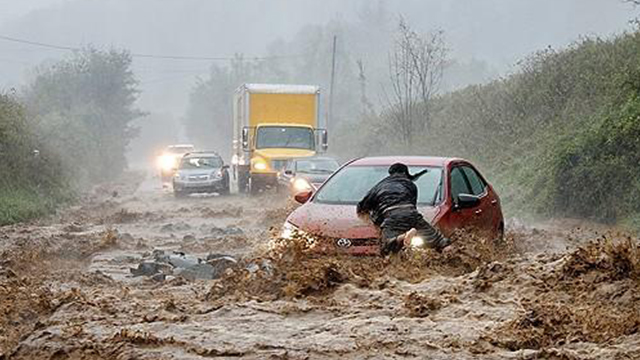
<path id="1" fill-rule="evenodd" d="M 416 181 L 418 209 L 446 236 L 456 229 L 473 228 L 489 238 L 502 238 L 500 199 L 480 172 L 463 159 L 423 156 L 367 157 L 348 162 L 317 192 L 295 196 L 303 205 L 289 215 L 282 236 L 297 232 L 329 239 L 335 249 L 349 254 L 378 253 L 379 232 L 358 218 L 356 204 L 396 162 L 406 164 L 411 173 L 429 170 Z"/>

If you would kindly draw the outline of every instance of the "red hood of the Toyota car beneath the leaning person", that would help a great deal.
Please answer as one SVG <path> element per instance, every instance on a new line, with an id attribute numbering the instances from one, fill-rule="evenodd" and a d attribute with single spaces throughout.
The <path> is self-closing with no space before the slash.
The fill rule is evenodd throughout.
<path id="1" fill-rule="evenodd" d="M 424 218 L 432 222 L 438 207 L 419 207 Z M 306 203 L 287 219 L 300 230 L 313 235 L 333 238 L 371 239 L 379 236 L 378 229 L 369 221 L 358 218 L 355 205 Z"/>

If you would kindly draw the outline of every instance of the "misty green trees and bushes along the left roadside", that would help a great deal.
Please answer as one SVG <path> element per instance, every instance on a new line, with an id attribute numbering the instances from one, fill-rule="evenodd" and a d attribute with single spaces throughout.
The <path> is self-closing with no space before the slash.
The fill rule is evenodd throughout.
<path id="1" fill-rule="evenodd" d="M 126 168 L 142 115 L 130 65 L 126 52 L 88 48 L 0 95 L 0 225 L 50 213 Z"/>

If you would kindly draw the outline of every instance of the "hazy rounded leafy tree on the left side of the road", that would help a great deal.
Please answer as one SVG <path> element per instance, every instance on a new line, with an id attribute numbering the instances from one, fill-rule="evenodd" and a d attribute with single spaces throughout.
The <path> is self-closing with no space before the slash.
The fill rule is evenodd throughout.
<path id="1" fill-rule="evenodd" d="M 126 147 L 137 134 L 131 122 L 143 115 L 137 96 L 130 55 L 94 48 L 40 68 L 25 91 L 41 140 L 80 184 L 113 178 L 126 167 Z"/>

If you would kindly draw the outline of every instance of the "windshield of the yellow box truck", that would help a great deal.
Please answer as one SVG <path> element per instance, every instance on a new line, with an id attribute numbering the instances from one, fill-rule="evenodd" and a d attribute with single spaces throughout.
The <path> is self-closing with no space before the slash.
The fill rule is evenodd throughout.
<path id="1" fill-rule="evenodd" d="M 315 149 L 313 130 L 310 128 L 298 126 L 261 126 L 258 128 L 256 136 L 256 149 Z"/>

